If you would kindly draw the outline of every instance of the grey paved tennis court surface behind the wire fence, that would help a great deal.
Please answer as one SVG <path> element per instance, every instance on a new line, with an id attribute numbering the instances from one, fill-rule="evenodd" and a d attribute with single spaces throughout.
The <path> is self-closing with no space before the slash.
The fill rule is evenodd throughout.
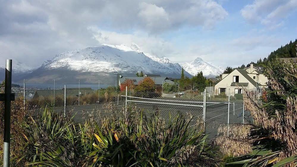
<path id="1" fill-rule="evenodd" d="M 90 116 L 94 118 L 98 118 L 102 115 L 110 115 L 112 112 L 121 111 L 123 107 L 125 107 L 125 98 L 117 102 L 100 103 L 100 104 L 87 104 L 80 106 L 66 106 L 66 113 L 72 113 L 74 115 L 74 121 L 76 122 L 84 122 Z M 198 118 L 202 119 L 203 107 L 199 105 L 203 105 L 202 101 L 196 99 L 182 99 L 182 98 L 165 98 L 160 97 L 158 99 L 166 99 L 166 100 L 175 100 L 181 102 L 171 102 L 171 101 L 158 101 L 155 99 L 131 99 L 128 100 L 136 100 L 143 102 L 128 102 L 128 105 L 135 105 L 146 113 L 147 116 L 151 116 L 154 113 L 160 113 L 163 118 L 169 118 L 169 113 L 172 116 L 181 113 L 183 115 L 191 115 L 193 118 L 191 120 L 191 126 L 195 126 L 197 124 Z M 187 101 L 187 102 L 183 102 Z M 149 102 L 149 103 L 145 103 Z M 161 102 L 168 104 L 153 104 L 150 102 Z M 180 105 L 175 105 L 172 103 L 177 103 Z M 191 106 L 189 106 L 191 105 Z M 216 104 L 212 106 L 211 103 L 207 103 L 206 107 L 206 121 L 205 121 L 205 131 L 209 134 L 210 139 L 214 138 L 217 135 L 217 129 L 220 124 L 227 124 L 228 120 L 228 104 Z M 234 108 L 234 114 L 233 114 Z M 55 111 L 59 113 L 64 112 L 64 107 L 55 107 Z M 42 110 L 42 109 L 41 109 Z M 37 110 L 35 110 L 36 112 Z M 100 114 L 99 114 L 100 113 Z M 236 124 L 242 123 L 243 117 L 243 103 L 242 102 L 233 102 L 230 103 L 230 111 L 229 111 L 229 123 Z M 249 112 L 245 111 L 245 122 L 251 121 L 249 118 Z"/>

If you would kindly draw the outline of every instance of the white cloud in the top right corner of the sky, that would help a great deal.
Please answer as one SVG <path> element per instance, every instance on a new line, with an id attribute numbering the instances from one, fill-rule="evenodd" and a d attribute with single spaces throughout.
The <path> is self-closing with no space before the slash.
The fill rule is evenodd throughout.
<path id="1" fill-rule="evenodd" d="M 296 0 L 255 0 L 241 9 L 241 15 L 250 23 L 279 27 L 296 7 Z"/>

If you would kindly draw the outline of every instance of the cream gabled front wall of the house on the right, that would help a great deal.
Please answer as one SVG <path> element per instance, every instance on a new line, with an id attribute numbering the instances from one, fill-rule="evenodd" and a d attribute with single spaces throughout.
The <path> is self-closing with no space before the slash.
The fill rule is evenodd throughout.
<path id="1" fill-rule="evenodd" d="M 215 94 L 219 95 L 219 88 L 226 88 L 226 94 L 228 94 L 228 89 L 230 88 L 230 94 L 234 94 L 234 89 L 236 86 L 231 87 L 231 83 L 233 82 L 233 76 L 239 76 L 239 82 L 249 83 L 247 89 L 253 89 L 254 86 L 245 78 L 243 75 L 237 70 L 232 71 L 229 75 L 223 78 L 219 83 L 215 85 Z"/>

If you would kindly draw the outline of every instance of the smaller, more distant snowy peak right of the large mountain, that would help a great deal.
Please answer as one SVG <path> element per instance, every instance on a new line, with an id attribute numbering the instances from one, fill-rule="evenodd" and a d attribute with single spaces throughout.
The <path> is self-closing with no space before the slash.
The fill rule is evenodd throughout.
<path id="1" fill-rule="evenodd" d="M 181 66 L 185 71 L 195 76 L 198 72 L 202 71 L 206 77 L 214 77 L 223 73 L 224 68 L 213 63 L 206 62 L 200 57 L 197 57 L 191 63 L 182 63 Z"/>

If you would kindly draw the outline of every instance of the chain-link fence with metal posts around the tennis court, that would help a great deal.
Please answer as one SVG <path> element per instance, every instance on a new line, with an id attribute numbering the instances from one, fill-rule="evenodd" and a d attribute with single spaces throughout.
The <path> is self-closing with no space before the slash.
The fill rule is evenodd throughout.
<path id="1" fill-rule="evenodd" d="M 166 119 L 182 114 L 191 118 L 190 126 L 205 126 L 209 138 L 217 135 L 221 124 L 249 123 L 249 112 L 244 110 L 242 96 L 213 95 L 210 91 L 181 91 L 178 96 L 162 92 L 136 92 L 135 90 L 110 91 L 91 88 L 64 88 L 52 90 L 24 89 L 16 92 L 16 98 L 24 96 L 26 107 L 32 114 L 51 107 L 58 113 L 71 115 L 76 122 L 90 117 L 97 118 L 114 112 L 125 112 L 136 107 L 146 116 L 159 114 Z M 239 96 L 240 97 L 240 96 Z"/>

